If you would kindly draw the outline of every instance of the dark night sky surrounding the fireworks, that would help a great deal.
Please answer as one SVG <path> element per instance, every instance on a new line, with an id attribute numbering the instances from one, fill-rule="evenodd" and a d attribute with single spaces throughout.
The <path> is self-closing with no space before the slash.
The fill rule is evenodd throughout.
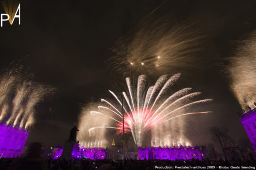
<path id="1" fill-rule="evenodd" d="M 205 98 L 214 99 L 208 105 L 214 114 L 194 120 L 199 142 L 211 139 L 211 126 L 226 126 L 236 140 L 247 138 L 236 114 L 241 108 L 218 63 L 233 55 L 235 41 L 254 30 L 255 1 L 28 0 L 21 1 L 21 25 L 4 23 L 0 28 L 0 69 L 22 60 L 35 73 L 36 81 L 57 90 L 38 106 L 37 122 L 27 143 L 63 144 L 77 124 L 81 105 L 106 96 L 111 81 L 124 81 L 118 73 L 111 75 L 105 62 L 113 56 L 110 48 L 161 4 L 153 15 L 196 16 L 201 19 L 198 27 L 208 29 L 207 64 L 186 80 Z M 2 7 L 0 10 L 4 13 Z"/>

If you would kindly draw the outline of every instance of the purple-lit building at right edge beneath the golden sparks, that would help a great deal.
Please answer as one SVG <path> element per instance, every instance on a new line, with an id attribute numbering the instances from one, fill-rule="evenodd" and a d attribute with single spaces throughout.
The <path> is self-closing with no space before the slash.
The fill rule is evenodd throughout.
<path id="1" fill-rule="evenodd" d="M 245 113 L 240 122 L 243 124 L 244 129 L 252 142 L 252 148 L 256 152 L 256 107 Z"/>

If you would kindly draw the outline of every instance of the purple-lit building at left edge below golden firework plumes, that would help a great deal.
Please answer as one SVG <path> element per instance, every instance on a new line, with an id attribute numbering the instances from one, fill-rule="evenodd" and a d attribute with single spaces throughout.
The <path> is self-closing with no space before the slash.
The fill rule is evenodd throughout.
<path id="1" fill-rule="evenodd" d="M 28 138 L 28 131 L 12 127 L 11 125 L 0 125 L 0 158 L 18 157 Z"/>

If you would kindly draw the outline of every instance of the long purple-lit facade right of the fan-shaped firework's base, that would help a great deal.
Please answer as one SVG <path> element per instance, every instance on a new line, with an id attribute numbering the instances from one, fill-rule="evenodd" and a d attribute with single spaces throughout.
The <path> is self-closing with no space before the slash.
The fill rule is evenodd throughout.
<path id="1" fill-rule="evenodd" d="M 201 151 L 198 148 L 194 147 L 166 147 L 166 148 L 140 148 L 138 150 L 139 159 L 168 159 L 168 160 L 175 160 L 175 159 L 199 159 L 202 160 Z"/>

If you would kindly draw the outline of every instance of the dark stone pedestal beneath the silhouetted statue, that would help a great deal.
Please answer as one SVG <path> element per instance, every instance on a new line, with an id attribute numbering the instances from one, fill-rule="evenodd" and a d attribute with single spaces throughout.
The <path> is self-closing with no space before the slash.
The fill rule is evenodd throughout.
<path id="1" fill-rule="evenodd" d="M 77 156 L 79 143 L 75 141 L 66 141 L 63 146 L 61 159 L 71 159 Z"/>

